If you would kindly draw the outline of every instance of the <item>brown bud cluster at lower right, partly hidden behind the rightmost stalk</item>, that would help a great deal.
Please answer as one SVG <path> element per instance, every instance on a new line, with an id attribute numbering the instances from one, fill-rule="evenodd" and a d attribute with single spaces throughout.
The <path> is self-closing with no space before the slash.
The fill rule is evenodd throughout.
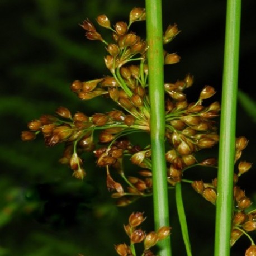
<path id="1" fill-rule="evenodd" d="M 236 152 L 235 162 L 241 157 L 242 151 L 246 148 L 248 140 L 241 136 L 236 139 Z M 207 161 L 208 162 L 208 161 Z M 203 162 L 205 163 L 205 161 Z M 252 205 L 252 201 L 245 195 L 239 186 L 236 185 L 239 177 L 248 172 L 252 167 L 252 163 L 246 161 L 240 161 L 238 163 L 238 173 L 234 173 L 234 187 L 233 187 L 233 219 L 232 219 L 232 230 L 230 245 L 233 246 L 235 242 L 245 233 L 256 230 L 256 209 L 247 212 L 248 208 Z M 197 193 L 202 195 L 207 201 L 210 201 L 215 205 L 217 199 L 217 178 L 213 179 L 211 183 L 204 183 L 203 181 L 192 182 L 192 187 Z M 248 234 L 246 234 L 248 235 Z M 248 248 L 249 251 L 255 250 L 254 245 Z M 247 251 L 246 251 L 247 252 Z M 254 255 L 254 254 L 245 254 Z"/>

